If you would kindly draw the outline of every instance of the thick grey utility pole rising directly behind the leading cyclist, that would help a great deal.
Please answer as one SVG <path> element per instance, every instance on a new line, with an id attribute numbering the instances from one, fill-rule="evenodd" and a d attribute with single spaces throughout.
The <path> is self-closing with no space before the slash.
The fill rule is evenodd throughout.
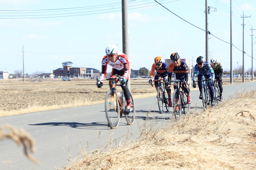
<path id="1" fill-rule="evenodd" d="M 122 49 L 123 53 L 129 59 L 129 44 L 128 44 L 128 3 L 127 0 L 122 0 Z M 131 89 L 131 82 L 127 83 L 128 89 Z"/>

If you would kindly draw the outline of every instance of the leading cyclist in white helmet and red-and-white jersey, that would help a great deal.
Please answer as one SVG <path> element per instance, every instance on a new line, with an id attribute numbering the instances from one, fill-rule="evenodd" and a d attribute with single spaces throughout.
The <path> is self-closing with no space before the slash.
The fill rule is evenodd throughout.
<path id="1" fill-rule="evenodd" d="M 122 76 L 123 79 L 120 80 L 122 84 L 122 89 L 124 90 L 125 100 L 126 100 L 126 109 L 125 113 L 131 112 L 131 97 L 130 91 L 127 87 L 127 82 L 130 78 L 131 69 L 130 61 L 127 56 L 121 52 L 117 51 L 118 48 L 116 45 L 108 45 L 106 47 L 106 55 L 102 59 L 102 72 L 99 79 L 104 79 L 107 73 L 107 65 L 112 66 L 112 72 L 110 77 Z M 103 85 L 103 81 L 97 82 L 97 87 L 100 88 Z"/>

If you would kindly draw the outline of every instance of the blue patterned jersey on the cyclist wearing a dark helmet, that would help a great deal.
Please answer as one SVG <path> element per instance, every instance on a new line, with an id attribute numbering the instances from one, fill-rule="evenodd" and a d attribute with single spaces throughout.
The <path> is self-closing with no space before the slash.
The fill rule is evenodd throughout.
<path id="1" fill-rule="evenodd" d="M 204 62 L 204 66 L 202 68 L 199 68 L 199 66 L 196 64 L 193 72 L 193 81 L 195 81 L 197 75 L 202 74 L 204 77 L 208 77 L 207 75 L 211 75 L 212 80 L 215 79 L 215 74 L 212 69 L 212 66 L 208 62 Z"/>

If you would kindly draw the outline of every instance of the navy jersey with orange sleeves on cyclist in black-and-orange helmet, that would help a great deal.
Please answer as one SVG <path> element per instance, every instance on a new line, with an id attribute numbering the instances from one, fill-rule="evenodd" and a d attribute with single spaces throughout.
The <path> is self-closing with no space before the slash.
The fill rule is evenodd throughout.
<path id="1" fill-rule="evenodd" d="M 189 68 L 186 62 L 180 61 L 180 65 L 178 67 L 176 67 L 173 63 L 171 63 L 168 67 L 168 73 L 171 74 L 171 76 L 172 76 L 172 71 L 175 73 L 176 79 L 180 79 L 180 80 L 185 79 L 185 81 L 188 82 Z"/>

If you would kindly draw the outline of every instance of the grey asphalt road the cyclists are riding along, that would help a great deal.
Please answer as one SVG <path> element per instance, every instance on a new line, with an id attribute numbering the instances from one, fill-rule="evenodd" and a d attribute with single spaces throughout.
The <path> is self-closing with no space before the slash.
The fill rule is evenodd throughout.
<path id="1" fill-rule="evenodd" d="M 256 82 L 225 86 L 223 99 L 255 87 Z M 200 111 L 202 102 L 197 89 L 191 91 L 191 107 Z M 81 148 L 90 153 L 97 148 L 105 151 L 108 147 L 138 139 L 145 127 L 160 128 L 172 122 L 172 114 L 158 113 L 156 97 L 135 99 L 135 104 L 137 119 L 134 124 L 128 126 L 122 118 L 114 130 L 108 127 L 104 104 L 0 117 L 0 125 L 8 123 L 23 128 L 35 138 L 36 153 L 32 155 L 41 163 L 33 163 L 23 155 L 23 148 L 5 139 L 0 142 L 0 170 L 54 170 L 80 160 Z"/>

